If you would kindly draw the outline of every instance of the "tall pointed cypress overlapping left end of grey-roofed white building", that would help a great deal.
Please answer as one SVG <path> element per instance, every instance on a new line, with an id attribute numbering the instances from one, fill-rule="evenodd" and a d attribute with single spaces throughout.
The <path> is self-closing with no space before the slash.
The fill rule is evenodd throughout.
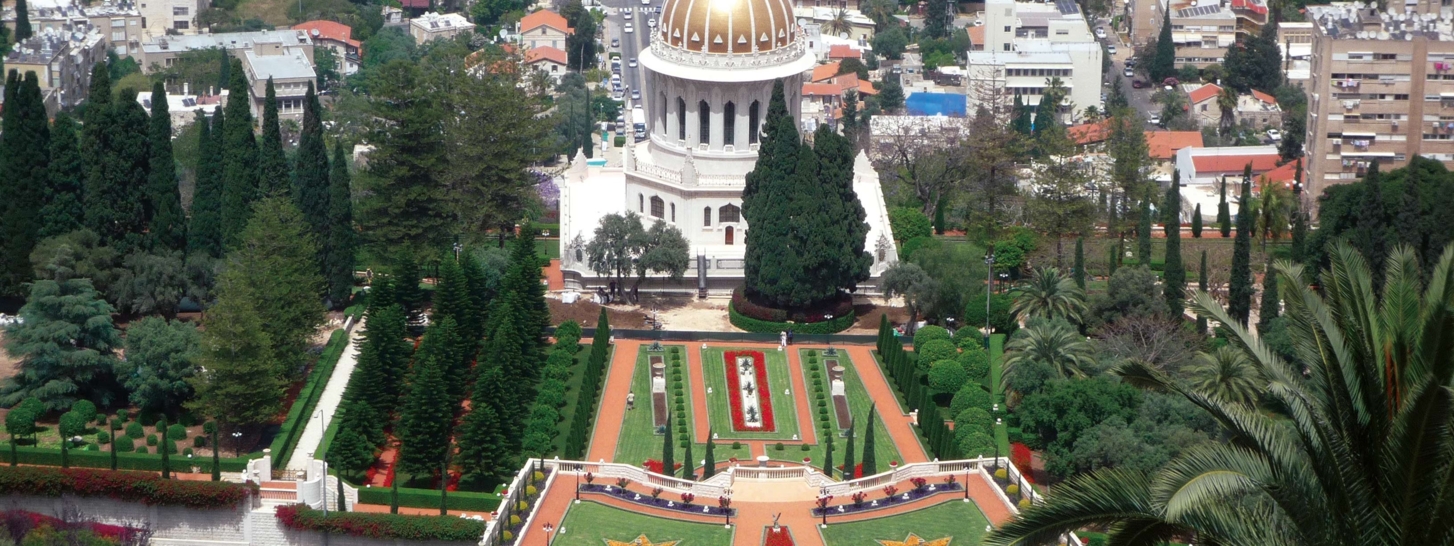
<path id="1" fill-rule="evenodd" d="M 247 227 L 253 200 L 257 199 L 257 139 L 253 138 L 253 115 L 247 105 L 247 78 L 241 62 L 233 60 L 233 81 L 228 87 L 227 125 L 222 128 L 222 245 L 237 243 Z M 215 128 L 214 128 L 215 129 Z"/>

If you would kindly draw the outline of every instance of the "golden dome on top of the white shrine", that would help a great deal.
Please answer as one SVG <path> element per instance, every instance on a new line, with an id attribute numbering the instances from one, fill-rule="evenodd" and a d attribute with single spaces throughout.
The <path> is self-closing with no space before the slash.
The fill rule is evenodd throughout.
<path id="1" fill-rule="evenodd" d="M 666 0 L 657 26 L 670 46 L 708 54 L 750 54 L 797 39 L 785 0 Z"/>

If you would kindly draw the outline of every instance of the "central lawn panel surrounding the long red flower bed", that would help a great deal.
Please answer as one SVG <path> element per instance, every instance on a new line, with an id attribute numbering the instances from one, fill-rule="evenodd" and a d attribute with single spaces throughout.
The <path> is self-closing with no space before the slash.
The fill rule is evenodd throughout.
<path id="1" fill-rule="evenodd" d="M 771 433 L 739 433 L 731 428 L 731 402 L 727 392 L 727 367 L 723 354 L 731 347 L 708 347 L 702 350 L 702 375 L 707 378 L 707 414 L 711 418 L 712 431 L 720 439 L 740 440 L 792 440 L 798 434 L 797 405 L 794 402 L 792 378 L 788 375 L 788 356 L 776 350 L 762 351 L 763 363 L 768 366 L 768 392 L 772 394 L 772 423 L 776 430 Z M 800 396 L 807 394 L 797 394 Z"/>

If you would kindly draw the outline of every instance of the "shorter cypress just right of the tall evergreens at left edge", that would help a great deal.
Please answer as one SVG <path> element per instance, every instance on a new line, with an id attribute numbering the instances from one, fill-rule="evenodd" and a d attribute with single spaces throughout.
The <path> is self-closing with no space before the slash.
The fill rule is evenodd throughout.
<path id="1" fill-rule="evenodd" d="M 86 219 L 86 209 L 81 208 L 86 164 L 81 163 L 79 131 L 70 112 L 55 113 L 51 126 L 51 184 L 45 189 L 45 206 L 41 208 L 41 238 L 80 229 Z"/>

